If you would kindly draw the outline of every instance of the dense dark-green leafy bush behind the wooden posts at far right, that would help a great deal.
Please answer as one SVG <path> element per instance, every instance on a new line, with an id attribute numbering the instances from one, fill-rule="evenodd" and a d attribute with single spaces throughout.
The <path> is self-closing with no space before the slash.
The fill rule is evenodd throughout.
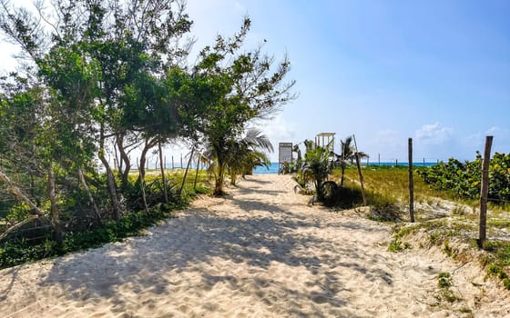
<path id="1" fill-rule="evenodd" d="M 418 171 L 423 181 L 435 190 L 446 191 L 464 199 L 480 196 L 482 156 L 464 163 L 451 158 Z M 510 154 L 495 153 L 489 164 L 489 201 L 495 204 L 510 202 Z"/>

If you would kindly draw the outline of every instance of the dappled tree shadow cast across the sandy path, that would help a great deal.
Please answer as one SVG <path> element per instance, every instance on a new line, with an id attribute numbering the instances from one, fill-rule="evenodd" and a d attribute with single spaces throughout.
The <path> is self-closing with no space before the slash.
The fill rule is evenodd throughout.
<path id="1" fill-rule="evenodd" d="M 247 192 L 246 189 L 243 191 Z M 326 266 L 328 269 L 349 268 L 362 275 L 363 279 L 382 279 L 385 283 L 392 283 L 391 274 L 363 265 L 381 260 L 345 247 L 342 243 L 308 234 L 312 229 L 321 227 L 317 218 L 303 218 L 277 204 L 254 203 L 252 200 L 237 199 L 236 196 L 229 200 L 230 204 L 247 214 L 254 208 L 270 214 L 239 219 L 211 214 L 206 209 L 194 209 L 185 217 L 171 219 L 166 224 L 149 229 L 149 235 L 130 238 L 124 243 L 108 243 L 95 250 L 57 259 L 46 280 L 40 284 L 60 284 L 70 298 L 78 294 L 84 297 L 80 291 L 86 288 L 86 298 L 105 297 L 115 306 L 124 306 L 131 301 L 118 291 L 127 284 L 134 292 L 165 295 L 179 287 L 179 282 L 175 280 L 193 272 L 199 274 L 199 283 L 205 290 L 222 284 L 232 293 L 235 291 L 243 296 L 257 297 L 268 305 L 283 299 L 295 303 L 289 314 L 296 316 L 310 314 L 301 310 L 299 300 L 311 300 L 313 315 L 321 317 L 323 305 L 333 309 L 346 305 L 339 295 L 345 286 L 324 269 Z M 374 231 L 373 228 L 362 229 L 362 225 L 355 222 L 335 222 L 328 226 L 339 232 L 352 229 Z M 318 250 L 327 252 L 311 253 Z M 355 261 L 346 263 L 342 260 L 343 255 L 349 255 Z M 219 259 L 240 264 L 254 273 L 269 271 L 273 263 L 301 270 L 304 268 L 313 277 L 306 284 L 319 288 L 315 288 L 314 292 L 293 290 L 284 283 L 250 274 L 240 276 L 210 272 L 209 268 L 217 266 Z M 246 283 L 250 283 L 250 291 L 243 290 Z M 277 295 L 264 293 L 268 284 L 276 288 Z M 204 304 L 204 308 L 210 305 Z M 209 310 L 213 310 L 213 307 Z M 355 317 L 355 314 L 349 315 Z"/>

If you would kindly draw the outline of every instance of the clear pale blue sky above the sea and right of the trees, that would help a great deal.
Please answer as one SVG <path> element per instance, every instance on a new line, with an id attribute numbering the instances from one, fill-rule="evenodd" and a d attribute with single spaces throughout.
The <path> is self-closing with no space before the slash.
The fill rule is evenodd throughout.
<path id="1" fill-rule="evenodd" d="M 197 50 L 248 15 L 246 49 L 266 40 L 289 56 L 299 98 L 262 124 L 274 145 L 355 134 L 371 161 L 403 162 L 413 137 L 416 161 L 471 160 L 493 134 L 493 154 L 510 153 L 510 1 L 188 0 L 188 12 Z"/>

